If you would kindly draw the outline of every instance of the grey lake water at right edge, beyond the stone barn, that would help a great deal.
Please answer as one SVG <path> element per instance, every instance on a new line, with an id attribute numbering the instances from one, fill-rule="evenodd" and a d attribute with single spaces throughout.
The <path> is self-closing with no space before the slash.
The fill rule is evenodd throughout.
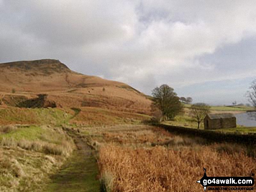
<path id="1" fill-rule="evenodd" d="M 256 127 L 256 112 L 235 114 L 236 124 L 246 127 Z"/>

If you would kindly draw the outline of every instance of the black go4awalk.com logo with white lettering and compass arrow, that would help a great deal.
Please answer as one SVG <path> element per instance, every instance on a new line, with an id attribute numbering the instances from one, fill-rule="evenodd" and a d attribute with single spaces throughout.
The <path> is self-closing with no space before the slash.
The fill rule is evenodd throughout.
<path id="1" fill-rule="evenodd" d="M 208 177 L 206 168 L 204 168 L 204 176 L 198 180 L 204 190 L 254 190 L 253 177 Z"/>

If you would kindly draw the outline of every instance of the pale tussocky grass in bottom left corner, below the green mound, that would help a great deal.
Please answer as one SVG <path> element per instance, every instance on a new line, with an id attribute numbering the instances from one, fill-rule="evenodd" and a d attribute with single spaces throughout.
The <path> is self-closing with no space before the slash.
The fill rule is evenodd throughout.
<path id="1" fill-rule="evenodd" d="M 0 147 L 0 191 L 39 192 L 62 161 L 61 156 Z"/>

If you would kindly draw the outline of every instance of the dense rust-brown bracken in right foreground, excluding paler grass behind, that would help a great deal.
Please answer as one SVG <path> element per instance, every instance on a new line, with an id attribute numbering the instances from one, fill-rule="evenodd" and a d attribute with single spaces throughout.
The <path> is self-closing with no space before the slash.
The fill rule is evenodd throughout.
<path id="1" fill-rule="evenodd" d="M 181 138 L 175 140 L 184 142 Z M 214 147 L 218 145 L 198 146 L 196 149 L 160 146 L 133 149 L 106 145 L 99 150 L 98 162 L 102 174 L 111 172 L 116 175 L 110 180 L 115 192 L 198 192 L 202 190 L 201 185 L 195 181 L 201 178 L 203 167 L 210 174 L 222 176 L 249 175 L 255 168 L 256 159 L 241 152 L 239 146 L 223 145 L 220 152 Z"/>

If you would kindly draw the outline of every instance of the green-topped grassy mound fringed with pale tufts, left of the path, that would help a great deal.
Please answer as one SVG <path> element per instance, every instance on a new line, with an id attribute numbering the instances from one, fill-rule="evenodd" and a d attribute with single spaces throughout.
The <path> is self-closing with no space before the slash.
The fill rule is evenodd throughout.
<path id="1" fill-rule="evenodd" d="M 0 135 L 2 146 L 20 147 L 53 155 L 70 155 L 74 148 L 72 143 L 72 139 L 60 128 L 46 126 L 19 126 Z"/>

